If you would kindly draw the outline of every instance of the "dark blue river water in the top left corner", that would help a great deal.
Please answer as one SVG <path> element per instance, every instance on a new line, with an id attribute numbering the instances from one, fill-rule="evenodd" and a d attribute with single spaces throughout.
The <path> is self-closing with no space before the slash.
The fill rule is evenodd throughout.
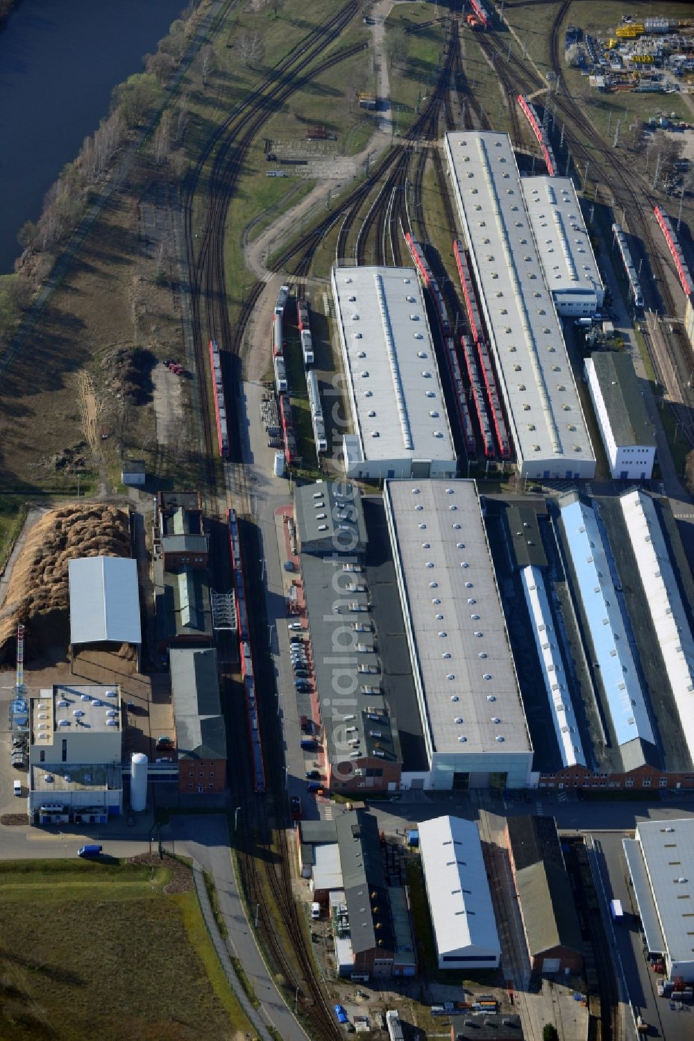
<path id="1" fill-rule="evenodd" d="M 17 233 L 184 0 L 22 0 L 0 32 L 0 274 Z"/>

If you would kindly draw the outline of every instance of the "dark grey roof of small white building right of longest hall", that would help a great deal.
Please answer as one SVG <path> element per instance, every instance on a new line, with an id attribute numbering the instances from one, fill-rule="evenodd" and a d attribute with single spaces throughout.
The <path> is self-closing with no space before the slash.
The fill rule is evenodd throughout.
<path id="1" fill-rule="evenodd" d="M 643 403 L 634 363 L 628 354 L 595 351 L 586 361 L 595 370 L 610 427 L 618 448 L 654 445 L 656 431 Z"/>

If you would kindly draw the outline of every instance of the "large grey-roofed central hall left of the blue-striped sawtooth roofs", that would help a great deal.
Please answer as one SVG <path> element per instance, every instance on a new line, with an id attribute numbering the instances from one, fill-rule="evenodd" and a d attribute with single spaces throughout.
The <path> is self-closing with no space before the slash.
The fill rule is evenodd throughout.
<path id="1" fill-rule="evenodd" d="M 488 787 L 496 775 L 524 787 L 533 752 L 477 485 L 387 481 L 385 502 L 431 764 L 423 783 Z"/>

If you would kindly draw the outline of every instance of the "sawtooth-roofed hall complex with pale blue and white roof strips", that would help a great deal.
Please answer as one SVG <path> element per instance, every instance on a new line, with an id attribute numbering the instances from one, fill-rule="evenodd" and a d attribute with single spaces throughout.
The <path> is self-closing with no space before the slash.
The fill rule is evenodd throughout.
<path id="1" fill-rule="evenodd" d="M 559 755 L 535 766 L 539 786 L 693 790 L 694 580 L 667 501 L 572 492 L 549 508 L 561 561 L 529 573 L 525 599 L 538 598 L 531 625 L 564 722 Z M 517 625 L 513 633 L 523 656 Z M 526 660 L 521 672 L 537 719 Z"/>

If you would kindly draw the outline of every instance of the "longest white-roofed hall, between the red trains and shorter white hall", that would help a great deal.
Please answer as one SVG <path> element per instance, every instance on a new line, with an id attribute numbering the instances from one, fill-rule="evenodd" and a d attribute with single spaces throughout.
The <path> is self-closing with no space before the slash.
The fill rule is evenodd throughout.
<path id="1" fill-rule="evenodd" d="M 523 477 L 592 478 L 595 456 L 507 134 L 445 150 Z"/>

